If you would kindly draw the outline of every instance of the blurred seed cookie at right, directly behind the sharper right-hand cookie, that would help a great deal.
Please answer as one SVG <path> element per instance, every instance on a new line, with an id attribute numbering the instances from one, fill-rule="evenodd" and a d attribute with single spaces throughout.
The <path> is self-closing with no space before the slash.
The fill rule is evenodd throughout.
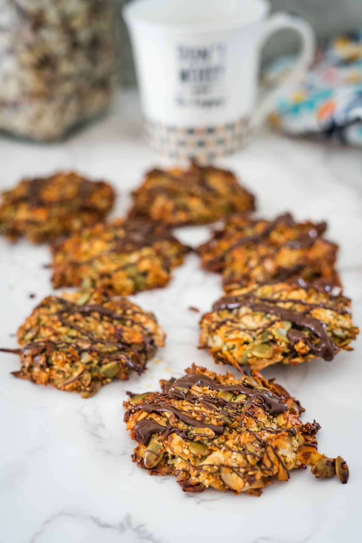
<path id="1" fill-rule="evenodd" d="M 337 245 L 321 236 L 327 224 L 297 223 L 290 213 L 274 220 L 236 215 L 199 247 L 201 266 L 223 273 L 226 292 L 249 283 L 323 281 L 339 286 Z"/>

